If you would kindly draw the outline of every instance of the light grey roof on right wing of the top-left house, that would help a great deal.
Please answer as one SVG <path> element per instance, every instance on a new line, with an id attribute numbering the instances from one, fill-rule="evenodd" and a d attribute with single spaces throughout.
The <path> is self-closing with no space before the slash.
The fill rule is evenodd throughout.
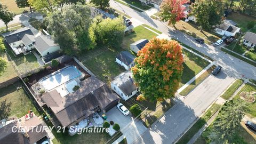
<path id="1" fill-rule="evenodd" d="M 45 50 L 49 49 L 49 47 L 57 46 L 51 38 L 48 38 L 44 35 L 37 36 L 35 38 L 35 47 L 37 51 L 44 52 Z"/>

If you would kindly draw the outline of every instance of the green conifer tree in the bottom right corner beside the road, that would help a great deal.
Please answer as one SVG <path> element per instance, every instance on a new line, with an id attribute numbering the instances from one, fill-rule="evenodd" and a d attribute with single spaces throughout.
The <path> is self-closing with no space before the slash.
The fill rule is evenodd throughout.
<path id="1" fill-rule="evenodd" d="M 228 141 L 233 143 L 234 134 L 243 116 L 246 104 L 241 99 L 234 99 L 222 106 L 220 113 L 213 122 L 210 139 L 217 143 Z"/>

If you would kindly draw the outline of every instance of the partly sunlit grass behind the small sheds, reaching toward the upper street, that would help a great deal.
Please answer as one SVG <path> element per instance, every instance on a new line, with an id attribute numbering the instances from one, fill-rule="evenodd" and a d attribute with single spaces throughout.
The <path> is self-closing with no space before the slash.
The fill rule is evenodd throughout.
<path id="1" fill-rule="evenodd" d="M 144 28 L 143 26 L 138 26 L 133 29 L 133 33 L 126 35 L 124 37 L 124 41 L 122 43 L 122 48 L 126 50 L 130 50 L 130 44 L 139 41 L 140 39 L 146 38 L 150 40 L 153 37 L 156 37 L 157 34 L 153 33 L 152 31 Z"/>

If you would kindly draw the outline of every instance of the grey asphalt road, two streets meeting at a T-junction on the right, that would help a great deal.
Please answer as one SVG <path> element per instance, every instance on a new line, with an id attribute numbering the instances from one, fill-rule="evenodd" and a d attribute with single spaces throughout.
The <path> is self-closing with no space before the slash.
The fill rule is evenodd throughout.
<path id="1" fill-rule="evenodd" d="M 242 75 L 247 78 L 256 77 L 254 66 L 222 52 L 217 47 L 197 44 L 193 37 L 166 26 L 164 22 L 151 19 L 145 12 L 139 13 L 113 0 L 110 0 L 110 6 L 130 15 L 133 23 L 146 23 L 162 31 L 163 34 L 176 38 L 197 51 L 208 55 L 223 67 L 220 75 L 207 77 L 183 101 L 173 106 L 159 122 L 151 126 L 137 141 L 132 143 L 173 143 L 236 78 L 240 78 Z"/>

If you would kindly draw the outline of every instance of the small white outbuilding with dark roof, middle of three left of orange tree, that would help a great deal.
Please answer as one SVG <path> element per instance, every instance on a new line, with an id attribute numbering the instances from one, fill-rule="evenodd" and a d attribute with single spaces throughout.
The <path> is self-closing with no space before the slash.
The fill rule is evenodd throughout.
<path id="1" fill-rule="evenodd" d="M 134 55 L 127 51 L 122 51 L 116 56 L 116 62 L 119 65 L 123 66 L 126 70 L 134 66 L 134 59 Z"/>

